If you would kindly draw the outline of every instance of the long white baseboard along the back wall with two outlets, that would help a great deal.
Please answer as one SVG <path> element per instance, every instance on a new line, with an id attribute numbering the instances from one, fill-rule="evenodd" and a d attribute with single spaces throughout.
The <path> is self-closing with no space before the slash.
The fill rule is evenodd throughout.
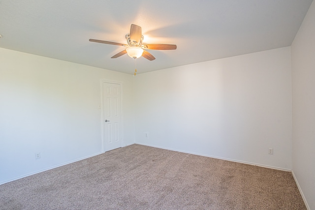
<path id="1" fill-rule="evenodd" d="M 200 156 L 205 156 L 205 157 L 212 157 L 212 158 L 221 159 L 221 160 L 228 160 L 228 161 L 237 162 L 237 163 L 244 163 L 244 164 L 260 166 L 260 167 L 264 167 L 264 168 L 270 168 L 270 169 L 276 169 L 276 170 L 291 172 L 291 169 L 285 169 L 285 168 L 280 168 L 280 167 L 275 167 L 275 166 L 268 166 L 268 165 L 257 164 L 257 163 L 252 163 L 252 162 L 246 162 L 246 161 L 234 160 L 234 159 L 229 159 L 229 158 L 211 156 L 211 155 L 207 155 L 207 154 L 189 152 L 189 151 L 184 151 L 184 150 L 174 150 L 174 149 L 170 149 L 170 148 L 163 148 L 163 147 L 158 147 L 158 146 L 149 145 L 149 144 L 142 144 L 142 143 L 135 143 L 135 144 L 149 146 L 149 147 L 155 147 L 155 148 L 164 149 L 164 150 L 179 151 L 179 152 L 184 152 L 184 153 L 188 153 L 188 154 L 195 154 L 195 155 L 200 155 Z"/>

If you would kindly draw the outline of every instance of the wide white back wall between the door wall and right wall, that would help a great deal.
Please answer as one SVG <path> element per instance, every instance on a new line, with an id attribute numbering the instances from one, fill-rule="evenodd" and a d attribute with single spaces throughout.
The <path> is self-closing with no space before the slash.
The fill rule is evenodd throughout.
<path id="1" fill-rule="evenodd" d="M 136 143 L 291 169 L 290 47 L 139 74 L 134 94 Z"/>

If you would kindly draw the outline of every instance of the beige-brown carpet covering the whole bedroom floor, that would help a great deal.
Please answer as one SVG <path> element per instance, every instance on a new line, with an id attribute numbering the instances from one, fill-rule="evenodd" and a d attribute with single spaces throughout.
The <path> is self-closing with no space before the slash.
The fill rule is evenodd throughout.
<path id="1" fill-rule="evenodd" d="M 290 172 L 141 145 L 0 185 L 1 210 L 305 210 Z"/>

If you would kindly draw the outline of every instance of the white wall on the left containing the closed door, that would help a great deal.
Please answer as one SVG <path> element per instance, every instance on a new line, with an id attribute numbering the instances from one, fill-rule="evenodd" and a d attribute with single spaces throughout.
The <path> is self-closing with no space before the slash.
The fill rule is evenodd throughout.
<path id="1" fill-rule="evenodd" d="M 0 48 L 0 183 L 103 151 L 100 79 L 123 82 L 133 144 L 131 75 Z"/>

